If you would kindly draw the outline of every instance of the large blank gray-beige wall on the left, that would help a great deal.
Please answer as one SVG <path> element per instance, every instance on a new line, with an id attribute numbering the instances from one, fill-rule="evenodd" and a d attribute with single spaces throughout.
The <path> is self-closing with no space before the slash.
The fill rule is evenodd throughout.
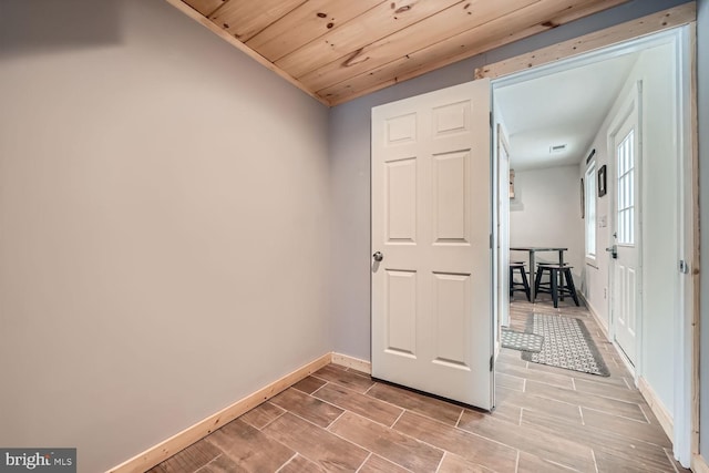
<path id="1" fill-rule="evenodd" d="M 163 0 L 2 0 L 0 90 L 0 445 L 104 471 L 332 349 L 326 106 Z"/>

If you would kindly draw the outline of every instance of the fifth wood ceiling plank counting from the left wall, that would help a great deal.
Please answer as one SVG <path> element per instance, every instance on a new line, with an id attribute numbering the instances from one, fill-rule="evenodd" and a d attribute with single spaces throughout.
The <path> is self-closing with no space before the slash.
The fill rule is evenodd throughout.
<path id="1" fill-rule="evenodd" d="M 576 1 L 582 2 L 582 0 Z M 506 4 L 490 0 L 471 0 L 459 3 L 364 47 L 354 56 L 354 61 L 339 58 L 300 76 L 299 80 L 310 90 L 318 91 L 387 64 L 392 59 L 404 58 L 407 54 L 430 44 L 473 30 L 496 19 L 503 19 L 522 8 L 538 4 L 538 0 L 507 1 Z"/>

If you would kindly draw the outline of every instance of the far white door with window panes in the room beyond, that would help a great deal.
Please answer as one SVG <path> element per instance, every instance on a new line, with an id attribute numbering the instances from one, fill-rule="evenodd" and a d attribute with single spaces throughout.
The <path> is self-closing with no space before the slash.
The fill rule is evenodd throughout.
<path id="1" fill-rule="evenodd" d="M 636 364 L 640 309 L 639 134 L 637 107 L 633 103 L 613 136 L 615 256 L 612 259 L 614 338 L 633 366 Z"/>

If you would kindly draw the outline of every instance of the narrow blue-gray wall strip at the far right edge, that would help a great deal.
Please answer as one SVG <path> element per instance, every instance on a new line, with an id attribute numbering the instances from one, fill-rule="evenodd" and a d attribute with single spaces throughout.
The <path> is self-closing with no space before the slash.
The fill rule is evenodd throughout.
<path id="1" fill-rule="evenodd" d="M 701 225 L 701 402 L 700 412 L 700 450 L 701 455 L 709 460 L 709 258 L 703 257 L 709 248 L 709 0 L 699 0 L 697 18 L 698 63 L 698 99 L 699 99 L 699 207 Z"/>

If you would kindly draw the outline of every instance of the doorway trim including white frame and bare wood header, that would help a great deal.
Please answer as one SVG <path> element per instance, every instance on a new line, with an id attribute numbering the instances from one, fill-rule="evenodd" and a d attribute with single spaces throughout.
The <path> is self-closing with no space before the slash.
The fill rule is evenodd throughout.
<path id="1" fill-rule="evenodd" d="M 698 325 L 695 322 L 698 320 L 698 208 L 696 193 L 697 193 L 697 126 L 696 120 L 692 117 L 696 114 L 696 84 L 693 84 L 693 71 L 696 68 L 695 58 L 696 51 L 693 47 L 693 34 L 696 31 L 696 7 L 693 2 L 686 3 L 675 9 L 667 10 L 671 14 L 665 12 L 658 12 L 654 18 L 654 29 L 651 31 L 641 31 L 637 34 L 637 22 L 641 22 L 643 19 L 634 22 L 624 23 L 618 27 L 613 27 L 613 30 L 623 30 L 623 34 L 605 34 L 606 43 L 599 44 L 598 38 L 594 43 L 592 51 L 584 54 L 578 54 L 583 51 L 567 51 L 566 54 L 559 54 L 554 58 L 549 56 L 551 47 L 545 50 L 524 54 L 518 58 L 513 58 L 506 61 L 502 61 L 496 64 L 481 68 L 476 70 L 476 76 L 497 78 L 492 81 L 493 91 L 496 88 L 511 85 L 514 83 L 542 78 L 548 74 L 561 72 L 565 69 L 576 68 L 585 64 L 589 64 L 602 59 L 613 58 L 618 54 L 625 54 L 633 50 L 639 51 L 641 49 L 653 48 L 660 44 L 672 43 L 676 48 L 677 60 L 677 155 L 680 157 L 678 162 L 678 214 L 679 217 L 679 253 L 677 255 L 679 260 L 686 261 L 685 266 L 688 268 L 688 275 L 676 275 L 676 282 L 678 287 L 678 307 L 677 316 L 680 321 L 680 330 L 677 330 L 676 339 L 672 343 L 676 347 L 680 347 L 676 352 L 675 366 L 681 367 L 681 369 L 675 370 L 675 405 L 665 407 L 665 411 L 656 412 L 658 418 L 661 415 L 668 418 L 669 421 L 666 425 L 671 425 L 674 432 L 670 439 L 674 443 L 674 454 L 679 462 L 689 466 L 690 463 L 699 464 L 702 467 L 703 461 L 698 454 L 698 435 L 699 435 L 699 417 L 698 417 Z M 676 23 L 667 25 L 661 23 L 655 24 L 657 18 L 665 18 L 667 23 Z M 657 17 L 657 18 L 655 18 Z M 671 28 L 677 27 L 677 28 Z M 668 28 L 671 28 L 668 30 Z M 651 34 L 655 32 L 654 34 Z M 595 33 L 592 33 L 592 35 Z M 600 34 L 600 32 L 598 33 Z M 640 38 L 637 38 L 640 35 Z M 588 35 L 589 37 L 589 35 Z M 635 39 L 634 39 L 635 38 Z M 583 39 L 576 39 L 572 42 L 579 43 Z M 620 42 L 625 41 L 625 42 Z M 558 50 L 558 48 L 557 48 Z M 531 62 L 527 62 L 530 58 L 535 58 L 546 54 L 544 61 L 540 61 L 541 65 L 532 66 Z M 511 65 L 514 64 L 514 65 Z M 692 102 L 693 101 L 693 102 Z M 494 105 L 493 105 L 494 107 Z M 684 277 L 688 276 L 688 277 Z M 639 352 L 638 357 L 643 353 Z M 644 373 L 641 370 L 637 370 L 637 376 L 641 377 Z M 646 390 L 647 392 L 647 390 Z M 657 404 L 657 403 L 656 403 Z"/>

